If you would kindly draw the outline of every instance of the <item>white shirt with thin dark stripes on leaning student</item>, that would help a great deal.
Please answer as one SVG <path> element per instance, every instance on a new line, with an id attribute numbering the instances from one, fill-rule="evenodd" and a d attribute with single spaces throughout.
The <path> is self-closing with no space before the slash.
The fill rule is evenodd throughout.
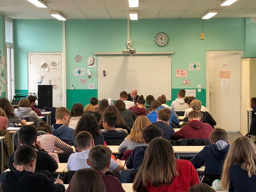
<path id="1" fill-rule="evenodd" d="M 66 144 L 58 137 L 50 134 L 39 135 L 37 140 L 41 143 L 41 146 L 47 153 L 54 153 L 54 146 L 63 150 L 66 153 L 72 153 L 73 149 L 70 145 Z"/>

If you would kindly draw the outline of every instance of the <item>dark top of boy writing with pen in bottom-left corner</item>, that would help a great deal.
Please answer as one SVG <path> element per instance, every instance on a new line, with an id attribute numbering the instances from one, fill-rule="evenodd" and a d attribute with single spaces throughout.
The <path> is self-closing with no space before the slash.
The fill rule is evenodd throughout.
<path id="1" fill-rule="evenodd" d="M 4 192 L 65 192 L 65 186 L 54 184 L 46 175 L 23 171 L 7 171 L 0 176 Z"/>

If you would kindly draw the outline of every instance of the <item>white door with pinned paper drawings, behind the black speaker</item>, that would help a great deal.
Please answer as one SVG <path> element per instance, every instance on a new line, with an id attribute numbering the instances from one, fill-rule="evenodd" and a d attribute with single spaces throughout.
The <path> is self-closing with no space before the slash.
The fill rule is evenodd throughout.
<path id="1" fill-rule="evenodd" d="M 55 68 L 51 68 L 53 61 L 55 61 L 53 64 Z M 47 71 L 41 70 L 41 66 L 44 63 L 48 64 Z M 57 67 L 56 63 L 58 64 Z M 62 106 L 61 63 L 61 54 L 28 54 L 28 92 L 35 92 L 38 94 L 38 85 L 53 85 L 53 107 Z M 43 81 L 41 82 L 42 78 Z"/>

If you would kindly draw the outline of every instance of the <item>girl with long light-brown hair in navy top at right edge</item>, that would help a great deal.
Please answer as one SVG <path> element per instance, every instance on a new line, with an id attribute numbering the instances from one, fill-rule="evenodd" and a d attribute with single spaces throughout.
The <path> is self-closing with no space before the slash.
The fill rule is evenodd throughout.
<path id="1" fill-rule="evenodd" d="M 245 136 L 234 140 L 225 159 L 221 185 L 229 192 L 256 189 L 256 146 Z"/>

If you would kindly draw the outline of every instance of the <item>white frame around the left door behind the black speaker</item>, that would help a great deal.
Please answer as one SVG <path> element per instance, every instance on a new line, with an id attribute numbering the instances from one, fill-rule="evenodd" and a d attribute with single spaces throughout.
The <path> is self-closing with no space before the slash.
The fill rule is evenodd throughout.
<path id="1" fill-rule="evenodd" d="M 66 107 L 66 66 L 63 52 L 28 52 L 27 53 L 27 68 L 28 68 L 28 83 L 30 82 L 30 55 L 61 55 L 61 73 L 62 73 L 62 107 Z M 29 86 L 28 86 L 29 89 Z M 29 90 L 28 90 L 29 92 Z"/>

